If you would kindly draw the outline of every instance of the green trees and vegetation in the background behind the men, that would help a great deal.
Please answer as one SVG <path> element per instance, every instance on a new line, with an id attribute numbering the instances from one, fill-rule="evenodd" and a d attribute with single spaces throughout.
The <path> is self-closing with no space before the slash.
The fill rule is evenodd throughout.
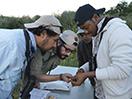
<path id="1" fill-rule="evenodd" d="M 110 10 L 105 12 L 105 15 L 120 17 L 127 21 L 127 24 L 132 28 L 132 2 L 129 4 L 127 2 L 120 2 L 115 7 L 111 7 Z M 55 14 L 55 16 L 60 20 L 63 25 L 64 30 L 71 29 L 74 32 L 77 31 L 77 26 L 74 22 L 74 11 L 64 11 L 61 15 Z M 23 28 L 24 23 L 33 22 L 38 19 L 40 16 L 36 15 L 34 17 L 22 16 L 22 17 L 13 17 L 13 16 L 0 16 L 0 28 Z M 68 66 L 77 66 L 76 52 L 74 52 L 70 57 L 63 60 L 61 65 Z"/>

